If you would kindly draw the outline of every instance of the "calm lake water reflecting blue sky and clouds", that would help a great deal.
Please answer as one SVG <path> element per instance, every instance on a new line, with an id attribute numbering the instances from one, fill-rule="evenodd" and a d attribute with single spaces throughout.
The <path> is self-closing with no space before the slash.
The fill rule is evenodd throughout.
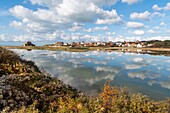
<path id="1" fill-rule="evenodd" d="M 93 95 L 109 79 L 112 85 L 155 100 L 170 97 L 170 57 L 121 52 L 66 52 L 13 49 L 22 58 Z"/>

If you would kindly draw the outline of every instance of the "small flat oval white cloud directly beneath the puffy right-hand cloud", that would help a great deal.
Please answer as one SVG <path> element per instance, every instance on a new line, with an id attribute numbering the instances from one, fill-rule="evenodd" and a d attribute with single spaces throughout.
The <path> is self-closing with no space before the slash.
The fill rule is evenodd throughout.
<path id="1" fill-rule="evenodd" d="M 139 29 L 139 28 L 145 28 L 146 26 L 140 22 L 127 22 L 126 27 Z"/>

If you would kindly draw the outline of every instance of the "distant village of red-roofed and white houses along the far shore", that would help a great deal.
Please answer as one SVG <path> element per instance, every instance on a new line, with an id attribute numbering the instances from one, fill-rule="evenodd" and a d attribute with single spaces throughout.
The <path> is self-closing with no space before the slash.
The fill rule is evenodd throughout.
<path id="1" fill-rule="evenodd" d="M 134 48 L 145 48 L 145 47 L 170 47 L 170 40 L 159 41 L 135 41 L 135 42 L 56 42 L 55 44 L 48 44 L 45 46 L 69 46 L 69 47 L 134 47 Z"/>

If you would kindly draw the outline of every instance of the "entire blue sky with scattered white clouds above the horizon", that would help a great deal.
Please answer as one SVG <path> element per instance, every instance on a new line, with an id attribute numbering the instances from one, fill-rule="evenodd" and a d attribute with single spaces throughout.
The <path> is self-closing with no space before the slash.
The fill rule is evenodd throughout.
<path id="1" fill-rule="evenodd" d="M 170 40 L 169 0 L 0 0 L 0 41 Z"/>

